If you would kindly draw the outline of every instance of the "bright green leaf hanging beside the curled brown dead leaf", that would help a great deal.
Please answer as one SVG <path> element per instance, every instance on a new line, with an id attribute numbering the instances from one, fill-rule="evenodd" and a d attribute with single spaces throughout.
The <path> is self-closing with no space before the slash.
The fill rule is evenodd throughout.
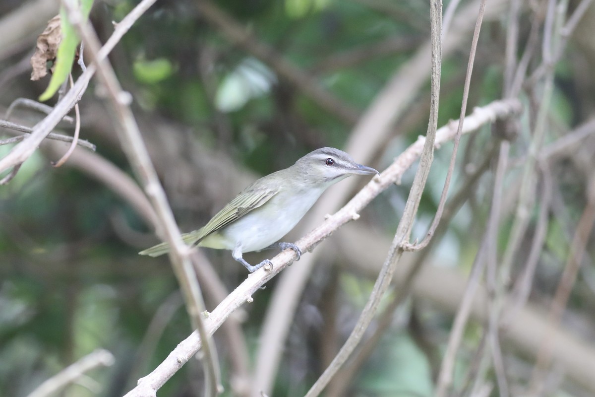
<path id="1" fill-rule="evenodd" d="M 83 23 L 89 17 L 92 5 L 93 0 L 80 1 L 80 13 L 83 17 Z M 68 78 L 68 74 L 72 70 L 74 55 L 80 42 L 79 35 L 77 35 L 74 26 L 68 21 L 68 15 L 64 7 L 60 8 L 60 27 L 62 30 L 62 40 L 56 54 L 55 71 L 52 74 L 52 79 L 49 80 L 48 88 L 39 96 L 39 101 L 42 102 L 54 96 L 62 83 Z"/>

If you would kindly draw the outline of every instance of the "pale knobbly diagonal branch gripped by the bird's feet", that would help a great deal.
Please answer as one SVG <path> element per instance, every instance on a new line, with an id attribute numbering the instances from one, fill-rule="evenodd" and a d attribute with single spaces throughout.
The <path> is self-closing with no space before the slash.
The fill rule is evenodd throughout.
<path id="1" fill-rule="evenodd" d="M 522 106 L 516 99 L 509 99 L 507 101 L 496 101 L 483 108 L 475 108 L 471 115 L 465 118 L 463 125 L 463 133 L 471 133 L 479 129 L 486 123 L 493 122 L 500 118 L 508 118 L 518 115 L 522 111 Z M 456 128 L 454 123 L 449 123 L 441 127 L 436 132 L 436 146 L 452 140 L 455 136 Z M 302 239 L 296 242 L 296 245 L 302 252 L 311 251 L 326 237 L 333 234 L 339 227 L 347 222 L 358 217 L 358 212 L 369 204 L 372 199 L 380 194 L 387 187 L 392 186 L 394 182 L 400 179 L 402 174 L 414 164 L 419 158 L 424 146 L 425 138 L 419 137 L 417 142 L 413 143 L 403 152 L 390 167 L 383 171 L 380 176 L 368 183 L 355 197 L 353 197 L 341 210 L 336 214 L 327 218 L 320 226 L 312 230 Z M 305 254 L 304 254 L 305 256 Z M 264 269 L 255 271 L 250 274 L 248 278 L 230 295 L 221 302 L 209 314 L 205 320 L 205 328 L 209 335 L 217 330 L 223 321 L 229 315 L 242 306 L 245 302 L 252 302 L 252 295 L 265 285 L 270 279 L 280 273 L 291 262 L 295 260 L 295 253 L 293 251 L 283 251 L 274 258 L 273 270 L 265 271 Z M 197 333 L 184 339 L 174 349 L 168 357 L 155 368 L 152 373 L 139 380 L 139 385 L 126 394 L 126 397 L 133 396 L 152 396 L 155 395 L 155 390 L 158 390 L 164 383 L 175 374 L 182 365 L 186 363 L 193 355 L 201 348 L 201 340 Z"/>

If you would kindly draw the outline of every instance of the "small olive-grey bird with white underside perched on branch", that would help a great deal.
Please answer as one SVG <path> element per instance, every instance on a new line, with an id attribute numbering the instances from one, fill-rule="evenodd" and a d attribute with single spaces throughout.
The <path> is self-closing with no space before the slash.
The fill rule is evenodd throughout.
<path id="1" fill-rule="evenodd" d="M 250 272 L 271 261 L 250 265 L 244 252 L 265 248 L 290 248 L 299 260 L 302 254 L 295 244 L 275 243 L 285 236 L 314 205 L 327 187 L 346 177 L 372 175 L 378 171 L 357 164 L 345 152 L 334 148 L 317 149 L 300 158 L 289 168 L 256 180 L 202 227 L 182 235 L 184 242 L 207 248 L 229 249 L 234 260 Z M 158 257 L 170 250 L 161 243 L 140 255 Z"/>

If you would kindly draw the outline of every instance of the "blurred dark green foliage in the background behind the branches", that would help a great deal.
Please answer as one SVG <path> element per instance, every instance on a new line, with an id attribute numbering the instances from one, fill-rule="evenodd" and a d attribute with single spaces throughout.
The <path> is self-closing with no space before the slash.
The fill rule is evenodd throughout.
<path id="1" fill-rule="evenodd" d="M 95 3 L 90 17 L 105 40 L 112 31 L 111 21 L 123 18 L 137 2 Z M 20 2 L 0 1 L 0 10 L 8 13 L 20 5 Z M 426 2 L 223 0 L 217 5 L 285 60 L 315 77 L 318 84 L 344 104 L 361 112 L 394 71 L 411 59 L 417 45 L 403 46 L 400 51 L 372 52 L 351 64 L 327 66 L 322 71 L 321 65 L 332 64 L 333 57 L 356 49 L 375 48 L 390 38 L 403 37 L 422 43 L 429 30 Z M 528 15 L 523 18 L 527 21 Z M 502 24 L 491 21 L 483 27 L 468 109 L 502 96 L 505 40 Z M 528 27 L 521 26 L 522 39 L 527 35 Z M 33 41 L 27 42 L 20 51 L 0 60 L 0 70 L 16 64 L 33 46 Z M 454 56 L 444 60 L 440 124 L 459 116 L 467 54 L 468 43 L 465 43 Z M 299 87 L 278 77 L 270 65 L 228 42 L 204 20 L 194 0 L 157 2 L 124 36 L 111 61 L 121 83 L 133 94 L 134 110 L 140 120 L 145 120 L 143 125 L 156 129 L 158 124 L 170 124 L 176 131 L 161 137 L 155 137 L 150 128 L 143 133 L 155 157 L 159 152 L 167 152 L 169 143 L 175 141 L 179 145 L 171 143 L 180 148 L 171 158 L 171 164 L 161 161 L 156 165 L 165 186 L 169 186 L 174 212 L 184 229 L 200 226 L 230 198 L 202 185 L 207 180 L 204 175 L 214 168 L 230 165 L 255 174 L 270 173 L 287 167 L 314 148 L 343 147 L 352 127 L 322 110 Z M 566 130 L 580 120 L 585 99 L 577 96 L 580 86 L 577 76 L 572 58 L 559 62 L 549 121 L 559 130 Z M 28 71 L 21 73 L 5 83 L 0 106 L 7 108 L 18 96 L 37 98 L 47 83 L 47 79 L 29 82 Z M 116 126 L 105 116 L 108 113 L 102 108 L 101 95 L 96 95 L 97 92 L 101 93 L 101 87 L 93 86 L 83 97 L 82 137 L 96 143 L 101 155 L 129 173 L 130 167 L 114 133 Z M 403 120 L 397 120 L 396 134 L 384 142 L 383 153 L 369 165 L 383 169 L 418 135 L 425 133 L 428 98 L 429 83 Z M 534 106 L 528 104 L 531 105 Z M 86 113 L 85 109 L 90 111 Z M 98 115 L 92 117 L 93 112 Z M 18 117 L 31 125 L 37 120 L 37 116 L 23 110 L 18 112 Z M 527 134 L 531 130 L 530 121 L 523 123 L 526 128 L 522 133 Z M 547 140 L 552 142 L 557 137 L 550 134 Z M 527 138 L 522 136 L 523 142 Z M 221 155 L 179 182 L 176 179 L 179 170 L 175 168 L 181 163 L 178 161 L 193 156 L 193 146 L 186 145 L 187 140 L 206 148 L 205 152 Z M 473 139 L 464 137 L 458 170 L 466 164 L 462 160 L 465 150 L 469 151 L 466 161 L 479 162 L 491 142 L 487 128 Z M 424 235 L 436 211 L 451 148 L 452 145 L 446 144 L 436 153 L 436 165 L 420 206 L 414 238 Z M 9 146 L 0 146 L 0 156 L 8 149 Z M 515 156 L 523 155 L 525 150 L 526 145 L 512 148 Z M 167 168 L 168 165 L 174 169 Z M 570 172 L 572 167 L 568 165 L 560 172 Z M 394 232 L 413 175 L 413 171 L 408 171 L 402 186 L 384 192 L 363 214 L 367 223 L 387 239 Z M 576 221 L 584 208 L 584 180 L 574 176 L 563 180 L 564 199 L 571 203 L 569 217 Z M 178 182 L 183 186 L 176 185 Z M 226 181 L 218 182 L 223 185 Z M 455 189 L 461 180 L 455 177 L 453 183 Z M 474 197 L 455 217 L 443 243 L 436 248 L 441 264 L 464 271 L 471 267 L 482 232 L 477 224 L 485 223 L 489 210 L 482 206 L 491 192 L 488 184 L 480 184 Z M 233 186 L 234 192 L 241 188 Z M 536 218 L 534 211 L 532 223 Z M 510 228 L 507 221 L 501 229 L 502 246 Z M 544 257 L 550 259 L 540 262 L 537 296 L 550 294 L 555 288 L 568 255 L 567 239 L 565 226 L 550 221 L 544 247 Z M 90 377 L 98 382 L 96 385 L 74 385 L 61 395 L 120 396 L 189 335 L 189 321 L 180 306 L 164 325 L 155 346 L 148 348 L 141 344 L 147 337 L 149 323 L 177 290 L 165 258 L 151 260 L 137 256 L 140 249 L 154 242 L 151 231 L 129 204 L 102 183 L 73 168 L 52 168 L 40 152 L 24 163 L 10 184 L 0 186 L 0 396 L 25 396 L 43 380 L 97 348 L 113 352 L 117 364 L 107 370 L 92 371 Z M 208 255 L 217 264 L 229 290 L 245 278 L 244 269 L 231 260 L 228 252 L 208 252 Z M 295 265 L 299 266 L 299 262 Z M 323 296 L 329 287 L 318 281 L 329 278 L 330 266 L 320 267 L 324 270 L 316 270 L 292 326 L 274 396 L 302 395 L 324 369 L 319 344 L 321 323 L 324 323 Z M 581 279 L 580 283 L 591 292 L 588 303 L 593 304 L 588 280 Z M 372 283 L 358 276 L 342 277 L 339 284 L 337 331 L 343 340 L 364 307 Z M 258 333 L 274 287 L 272 280 L 256 294 L 253 304 L 245 305 L 248 316 L 244 329 L 252 355 L 258 347 Z M 574 310 L 588 306 L 577 300 L 572 302 Z M 209 308 L 212 308 L 210 304 Z M 315 315 L 309 315 L 308 310 Z M 394 321 L 372 358 L 352 380 L 348 395 L 432 395 L 436 362 L 423 349 L 423 341 L 406 325 L 408 317 L 416 314 L 412 305 L 404 313 L 405 320 Z M 429 318 L 424 321 L 432 329 L 425 343 L 431 345 L 430 350 L 442 352 L 451 326 L 450 317 L 424 308 L 419 315 Z M 584 321 L 593 320 L 592 314 L 584 317 Z M 469 356 L 473 353 L 469 345 L 477 345 L 478 339 L 474 329 L 466 335 L 467 355 L 458 363 L 458 380 L 464 378 L 462 373 L 469 368 Z M 143 362 L 139 362 L 141 348 L 152 352 Z M 231 370 L 225 346 L 220 346 L 220 354 L 224 396 L 231 396 L 226 376 Z M 201 395 L 202 375 L 197 373 L 200 373 L 199 365 L 190 362 L 166 383 L 159 395 Z"/>

